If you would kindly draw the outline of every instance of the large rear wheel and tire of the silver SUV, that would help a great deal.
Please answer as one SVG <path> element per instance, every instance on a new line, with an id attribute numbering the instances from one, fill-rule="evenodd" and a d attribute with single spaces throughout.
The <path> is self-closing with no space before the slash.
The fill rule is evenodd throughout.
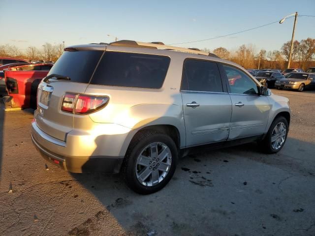
<path id="1" fill-rule="evenodd" d="M 136 134 L 128 147 L 122 174 L 130 189 L 139 194 L 151 194 L 172 178 L 177 159 L 177 147 L 168 135 L 143 131 Z"/>

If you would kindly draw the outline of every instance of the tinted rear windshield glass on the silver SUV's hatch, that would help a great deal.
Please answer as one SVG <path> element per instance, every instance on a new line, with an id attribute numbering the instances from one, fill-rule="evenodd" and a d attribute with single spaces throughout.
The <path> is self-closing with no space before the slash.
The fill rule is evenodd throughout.
<path id="1" fill-rule="evenodd" d="M 89 83 L 95 67 L 104 51 L 66 51 L 49 71 L 70 77 L 71 82 Z"/>

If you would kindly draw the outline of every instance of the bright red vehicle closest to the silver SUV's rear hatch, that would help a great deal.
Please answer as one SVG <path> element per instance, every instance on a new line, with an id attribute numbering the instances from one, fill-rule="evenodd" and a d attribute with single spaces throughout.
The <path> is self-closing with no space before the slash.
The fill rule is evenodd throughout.
<path id="1" fill-rule="evenodd" d="M 37 87 L 46 77 L 52 63 L 38 63 L 10 67 L 4 70 L 5 85 L 8 91 L 6 105 L 21 109 L 36 109 Z"/>

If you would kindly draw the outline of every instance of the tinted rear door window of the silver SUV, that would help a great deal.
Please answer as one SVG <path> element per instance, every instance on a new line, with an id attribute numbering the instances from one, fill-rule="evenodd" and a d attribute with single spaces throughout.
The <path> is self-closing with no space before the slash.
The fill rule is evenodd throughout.
<path id="1" fill-rule="evenodd" d="M 181 90 L 223 92 L 217 63 L 194 59 L 186 60 Z"/>

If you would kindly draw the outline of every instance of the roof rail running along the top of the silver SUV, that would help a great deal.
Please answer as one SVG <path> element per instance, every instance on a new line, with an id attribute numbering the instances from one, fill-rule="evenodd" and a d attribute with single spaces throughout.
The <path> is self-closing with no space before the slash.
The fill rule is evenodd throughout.
<path id="1" fill-rule="evenodd" d="M 132 47 L 132 48 L 151 48 L 151 49 L 174 50 L 174 51 L 180 51 L 180 52 L 185 52 L 185 53 L 194 53 L 194 54 L 219 58 L 217 55 L 215 55 L 213 53 L 206 53 L 206 52 L 200 51 L 199 49 L 196 49 L 196 48 L 173 47 L 173 46 L 169 46 L 169 45 L 164 45 L 162 42 L 144 43 L 144 42 L 137 42 L 137 41 L 132 41 L 132 40 L 120 40 L 120 41 L 112 42 L 109 45 L 122 46 L 122 47 Z"/>

